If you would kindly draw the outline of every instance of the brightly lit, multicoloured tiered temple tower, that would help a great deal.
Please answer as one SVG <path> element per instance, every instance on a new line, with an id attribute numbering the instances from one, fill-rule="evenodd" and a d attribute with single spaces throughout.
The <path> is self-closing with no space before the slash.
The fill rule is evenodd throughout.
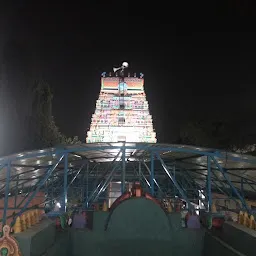
<path id="1" fill-rule="evenodd" d="M 117 73 L 102 74 L 101 91 L 86 142 L 120 141 L 156 143 L 143 74 L 121 78 Z"/>

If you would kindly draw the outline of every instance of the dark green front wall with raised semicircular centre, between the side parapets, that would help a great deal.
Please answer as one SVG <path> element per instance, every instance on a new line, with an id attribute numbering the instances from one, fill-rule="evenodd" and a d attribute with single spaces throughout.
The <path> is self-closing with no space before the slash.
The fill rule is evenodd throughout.
<path id="1" fill-rule="evenodd" d="M 111 214 L 95 213 L 94 231 L 71 231 L 73 256 L 190 255 L 202 254 L 204 230 L 181 228 L 180 214 L 166 215 L 154 202 L 134 198 Z M 94 224 L 95 225 L 95 224 Z"/>

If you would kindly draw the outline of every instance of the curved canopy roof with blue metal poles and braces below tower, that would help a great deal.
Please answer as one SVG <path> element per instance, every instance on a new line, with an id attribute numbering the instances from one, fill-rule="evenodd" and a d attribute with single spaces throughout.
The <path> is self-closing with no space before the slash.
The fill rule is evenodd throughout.
<path id="1" fill-rule="evenodd" d="M 162 198 L 179 196 L 190 205 L 202 200 L 209 211 L 212 192 L 219 191 L 250 212 L 246 195 L 256 191 L 256 158 L 219 150 L 185 145 L 147 143 L 95 143 L 23 152 L 0 159 L 0 187 L 6 223 L 9 196 L 21 195 L 13 209 L 21 214 L 38 191 L 46 201 L 60 199 L 62 210 L 72 193 L 79 194 L 83 207 L 107 198 L 111 181 L 141 181 L 145 190 Z M 255 173 L 256 174 L 256 173 Z"/>

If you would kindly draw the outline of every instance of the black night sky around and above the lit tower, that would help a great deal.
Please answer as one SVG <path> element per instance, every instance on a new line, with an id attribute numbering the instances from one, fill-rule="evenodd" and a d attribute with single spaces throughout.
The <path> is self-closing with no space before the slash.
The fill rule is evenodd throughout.
<path id="1" fill-rule="evenodd" d="M 53 114 L 66 135 L 85 140 L 100 75 L 123 61 L 145 75 L 159 142 L 176 141 L 190 120 L 219 118 L 232 120 L 241 133 L 256 130 L 250 2 L 20 2 L 1 8 L 2 42 L 19 41 L 21 65 L 49 82 Z"/>

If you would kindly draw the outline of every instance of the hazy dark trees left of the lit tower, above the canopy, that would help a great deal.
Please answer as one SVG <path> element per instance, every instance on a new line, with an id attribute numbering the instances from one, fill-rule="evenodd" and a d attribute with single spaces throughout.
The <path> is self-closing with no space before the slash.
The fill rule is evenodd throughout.
<path id="1" fill-rule="evenodd" d="M 56 126 L 50 86 L 35 79 L 41 72 L 31 68 L 35 60 L 29 59 L 28 46 L 9 40 L 1 48 L 0 155 L 79 143 L 77 137 L 67 138 Z"/>

